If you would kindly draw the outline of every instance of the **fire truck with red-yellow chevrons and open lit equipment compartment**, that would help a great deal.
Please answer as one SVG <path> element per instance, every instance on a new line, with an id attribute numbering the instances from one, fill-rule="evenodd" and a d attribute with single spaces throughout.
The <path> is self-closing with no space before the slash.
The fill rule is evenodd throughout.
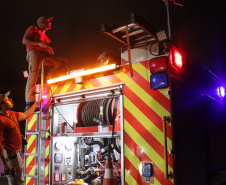
<path id="1" fill-rule="evenodd" d="M 25 133 L 27 185 L 207 185 L 223 174 L 224 83 L 164 31 L 130 19 L 102 25 L 123 44 L 120 60 L 104 53 L 46 83 L 42 68 L 43 103 Z"/>

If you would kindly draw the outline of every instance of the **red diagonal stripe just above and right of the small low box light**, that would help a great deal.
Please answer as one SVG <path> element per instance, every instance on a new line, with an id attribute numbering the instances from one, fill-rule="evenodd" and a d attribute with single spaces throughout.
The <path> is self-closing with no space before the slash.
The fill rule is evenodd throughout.
<path id="1" fill-rule="evenodd" d="M 141 162 L 152 162 L 152 160 L 144 153 L 141 151 L 140 147 L 134 142 L 134 140 L 127 134 L 125 133 L 125 144 L 130 148 L 131 151 L 134 151 L 134 148 L 136 149 L 134 154 L 137 156 L 137 158 L 141 161 Z M 129 169 L 130 165 L 129 164 L 130 161 L 128 159 L 125 160 L 125 168 Z M 136 170 L 136 172 L 131 172 L 132 170 L 130 170 L 131 174 L 135 174 L 135 176 L 133 176 L 134 179 L 137 179 L 137 174 L 139 174 L 138 170 Z M 173 183 L 168 180 L 168 179 L 164 179 L 164 173 L 158 168 L 158 166 L 156 166 L 154 164 L 154 176 L 155 178 L 164 185 L 173 185 Z"/>

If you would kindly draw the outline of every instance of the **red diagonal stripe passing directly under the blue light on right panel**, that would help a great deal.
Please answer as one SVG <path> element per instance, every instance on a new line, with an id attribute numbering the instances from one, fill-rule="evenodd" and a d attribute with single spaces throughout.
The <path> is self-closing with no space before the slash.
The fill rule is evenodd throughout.
<path id="1" fill-rule="evenodd" d="M 170 112 L 169 99 L 167 99 L 162 93 L 158 90 L 151 90 L 150 83 L 145 80 L 139 73 L 135 70 L 133 71 L 134 77 L 131 78 L 134 82 L 139 84 L 139 86 L 146 91 L 151 97 L 153 97 L 159 104 L 161 104 L 168 112 Z M 130 74 L 127 74 L 130 76 Z"/>

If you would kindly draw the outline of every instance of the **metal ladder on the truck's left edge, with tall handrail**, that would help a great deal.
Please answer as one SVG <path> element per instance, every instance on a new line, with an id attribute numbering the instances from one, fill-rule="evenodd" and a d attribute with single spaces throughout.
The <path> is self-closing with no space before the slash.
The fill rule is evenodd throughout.
<path id="1" fill-rule="evenodd" d="M 40 97 L 43 98 L 43 86 L 44 86 L 44 58 L 41 68 L 41 89 Z M 28 141 L 27 147 L 24 150 L 24 169 L 25 169 L 25 184 L 44 185 L 45 183 L 45 157 L 46 157 L 46 138 L 50 129 L 46 128 L 46 116 L 43 114 L 43 102 L 40 104 L 40 111 L 33 114 L 34 118 L 33 126 L 28 125 L 26 120 L 25 137 L 30 137 L 31 141 Z M 36 120 L 36 121 L 35 121 Z M 35 151 L 35 152 L 34 152 Z"/>

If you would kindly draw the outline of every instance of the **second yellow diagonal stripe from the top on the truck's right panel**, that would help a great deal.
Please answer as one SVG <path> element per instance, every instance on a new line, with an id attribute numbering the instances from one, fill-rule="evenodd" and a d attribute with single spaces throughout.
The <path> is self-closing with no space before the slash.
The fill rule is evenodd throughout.
<path id="1" fill-rule="evenodd" d="M 129 76 L 126 75 L 126 85 L 130 88 L 144 103 L 146 103 L 160 117 L 169 116 L 170 113 L 152 98 L 145 90 L 135 83 Z"/>

